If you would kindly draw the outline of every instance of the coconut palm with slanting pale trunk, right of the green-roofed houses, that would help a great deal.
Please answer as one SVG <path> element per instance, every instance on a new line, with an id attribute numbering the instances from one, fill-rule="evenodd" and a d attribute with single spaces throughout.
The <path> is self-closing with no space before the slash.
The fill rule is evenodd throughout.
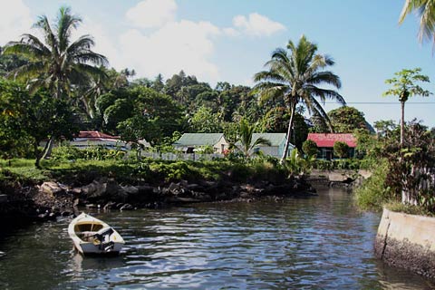
<path id="1" fill-rule="evenodd" d="M 317 45 L 310 43 L 303 35 L 297 45 L 289 41 L 287 50 L 275 49 L 271 60 L 265 64 L 268 71 L 256 73 L 254 76 L 254 81 L 257 82 L 254 89 L 261 100 L 284 100 L 291 112 L 281 163 L 287 157 L 297 104 L 303 103 L 310 114 L 320 116 L 329 123 L 320 102 L 333 99 L 343 105 L 346 103 L 338 92 L 319 87 L 327 84 L 339 89 L 341 82 L 334 73 L 324 71 L 327 66 L 333 65 L 333 59 L 316 52 Z"/>

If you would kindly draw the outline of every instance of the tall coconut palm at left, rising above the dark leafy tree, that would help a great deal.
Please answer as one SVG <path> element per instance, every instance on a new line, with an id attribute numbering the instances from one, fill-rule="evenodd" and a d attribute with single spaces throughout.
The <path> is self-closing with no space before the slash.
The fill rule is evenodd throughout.
<path id="1" fill-rule="evenodd" d="M 92 37 L 82 35 L 71 41 L 73 30 L 81 22 L 69 7 L 59 9 L 53 24 L 47 16 L 40 16 L 34 28 L 43 34 L 43 41 L 33 34 L 23 34 L 19 42 L 5 45 L 5 54 L 22 55 L 30 60 L 8 73 L 8 77 L 27 82 L 32 93 L 47 88 L 56 99 L 71 96 L 74 88 L 88 84 L 93 78 L 104 77 L 99 66 L 108 61 L 102 54 L 92 52 Z M 53 139 L 50 134 L 44 157 L 50 154 Z"/>

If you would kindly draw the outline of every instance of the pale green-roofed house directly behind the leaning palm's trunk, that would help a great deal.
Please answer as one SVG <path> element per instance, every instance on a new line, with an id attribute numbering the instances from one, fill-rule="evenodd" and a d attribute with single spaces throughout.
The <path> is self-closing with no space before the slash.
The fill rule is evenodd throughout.
<path id="1" fill-rule="evenodd" d="M 255 142 L 258 138 L 264 138 L 266 140 L 270 141 L 270 146 L 268 145 L 261 145 L 256 146 L 254 148 L 254 152 L 261 151 L 263 154 L 268 156 L 273 156 L 276 158 L 281 158 L 284 154 L 285 149 L 285 133 L 253 133 L 252 134 L 252 141 Z M 290 155 L 290 152 L 295 149 L 295 145 L 289 144 L 288 145 L 288 155 Z M 254 153 L 253 152 L 253 153 Z"/>

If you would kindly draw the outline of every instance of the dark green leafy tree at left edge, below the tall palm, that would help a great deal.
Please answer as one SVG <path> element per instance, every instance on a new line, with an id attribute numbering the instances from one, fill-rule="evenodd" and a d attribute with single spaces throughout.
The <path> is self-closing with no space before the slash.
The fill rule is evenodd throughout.
<path id="1" fill-rule="evenodd" d="M 72 138 L 77 128 L 71 102 L 54 99 L 46 90 L 33 96 L 18 82 L 0 78 L 0 152 L 6 157 L 33 156 L 40 168 L 40 143 L 48 132 Z M 55 112 L 55 113 L 54 113 Z"/>

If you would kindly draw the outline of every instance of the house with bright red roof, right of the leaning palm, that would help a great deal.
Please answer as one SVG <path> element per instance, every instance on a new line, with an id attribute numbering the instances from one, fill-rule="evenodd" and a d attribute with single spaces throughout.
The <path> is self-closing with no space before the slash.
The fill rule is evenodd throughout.
<path id="1" fill-rule="evenodd" d="M 349 146 L 349 157 L 355 155 L 356 138 L 353 134 L 308 133 L 307 140 L 313 140 L 319 149 L 318 158 L 333 160 L 333 144 L 341 141 Z"/>

